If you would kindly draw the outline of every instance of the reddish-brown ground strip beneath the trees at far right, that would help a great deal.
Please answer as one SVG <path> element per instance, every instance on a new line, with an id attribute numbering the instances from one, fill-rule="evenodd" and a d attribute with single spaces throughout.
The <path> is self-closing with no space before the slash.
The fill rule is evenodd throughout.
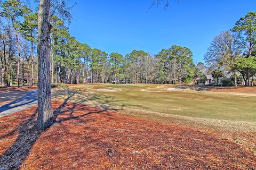
<path id="1" fill-rule="evenodd" d="M 256 87 L 227 87 L 227 88 L 210 88 L 213 92 L 241 92 L 247 94 L 256 94 Z"/>

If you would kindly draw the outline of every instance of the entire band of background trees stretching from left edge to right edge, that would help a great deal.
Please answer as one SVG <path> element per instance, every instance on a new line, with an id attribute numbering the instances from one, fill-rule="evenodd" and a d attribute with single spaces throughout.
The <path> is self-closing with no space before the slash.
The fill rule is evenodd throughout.
<path id="1" fill-rule="evenodd" d="M 54 2 L 51 2 L 54 3 Z M 56 2 L 55 2 L 56 3 Z M 58 5 L 58 3 L 56 3 Z M 60 5 L 60 4 L 59 4 Z M 63 7 L 63 6 L 62 6 Z M 34 85 L 38 79 L 37 12 L 12 0 L 1 4 L 0 83 Z M 252 86 L 256 70 L 256 13 L 238 20 L 231 31 L 214 38 L 205 55 L 206 66 L 193 62 L 187 47 L 174 45 L 156 55 L 133 50 L 130 54 L 107 54 L 72 37 L 70 16 L 51 15 L 51 83 L 195 83 L 212 74 L 215 79 L 231 73 L 234 85 L 240 78 Z M 63 12 L 62 16 L 68 12 Z"/>

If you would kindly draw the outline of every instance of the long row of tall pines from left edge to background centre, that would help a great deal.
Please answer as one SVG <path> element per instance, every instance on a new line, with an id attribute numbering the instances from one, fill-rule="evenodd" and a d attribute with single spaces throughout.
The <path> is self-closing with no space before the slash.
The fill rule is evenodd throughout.
<path id="1" fill-rule="evenodd" d="M 1 3 L 1 83 L 37 83 L 38 13 L 21 1 Z M 198 76 L 193 53 L 172 46 L 156 55 L 143 50 L 107 54 L 72 37 L 67 22 L 51 16 L 51 83 L 183 83 Z M 21 82 L 20 82 L 21 81 Z"/>

